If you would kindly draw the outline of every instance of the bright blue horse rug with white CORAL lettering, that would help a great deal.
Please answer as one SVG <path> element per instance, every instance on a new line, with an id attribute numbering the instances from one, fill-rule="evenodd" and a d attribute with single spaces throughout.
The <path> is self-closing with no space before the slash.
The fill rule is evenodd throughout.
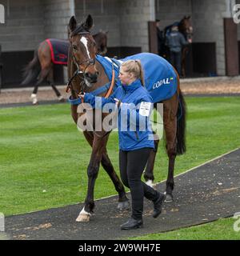
<path id="1" fill-rule="evenodd" d="M 171 98 L 177 90 L 178 79 L 173 66 L 165 58 L 156 54 L 141 53 L 120 60 L 97 55 L 96 59 L 102 64 L 110 80 L 112 78 L 112 62 L 114 62 L 115 78 L 118 78 L 119 66 L 122 62 L 139 59 L 142 63 L 146 89 L 154 103 Z M 120 81 L 118 80 L 116 86 L 119 85 Z"/>

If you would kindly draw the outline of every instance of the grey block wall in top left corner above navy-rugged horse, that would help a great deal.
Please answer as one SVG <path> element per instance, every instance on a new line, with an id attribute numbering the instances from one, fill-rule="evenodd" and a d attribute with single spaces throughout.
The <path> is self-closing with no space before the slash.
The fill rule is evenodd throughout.
<path id="1" fill-rule="evenodd" d="M 34 50 L 44 37 L 43 3 L 40 0 L 1 1 L 6 9 L 6 24 L 0 26 L 2 52 Z"/>

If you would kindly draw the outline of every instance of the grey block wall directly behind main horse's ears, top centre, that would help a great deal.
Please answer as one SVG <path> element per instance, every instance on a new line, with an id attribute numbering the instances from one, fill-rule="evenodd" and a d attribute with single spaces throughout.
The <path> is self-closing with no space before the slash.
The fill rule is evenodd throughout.
<path id="1" fill-rule="evenodd" d="M 78 20 L 92 14 L 93 32 L 108 31 L 108 46 L 138 46 L 148 51 L 147 22 L 154 20 L 154 0 L 75 0 Z"/>

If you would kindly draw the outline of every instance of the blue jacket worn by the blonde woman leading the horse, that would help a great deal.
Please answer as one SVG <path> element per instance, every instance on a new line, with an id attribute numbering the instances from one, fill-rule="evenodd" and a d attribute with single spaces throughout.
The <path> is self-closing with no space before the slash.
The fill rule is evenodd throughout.
<path id="1" fill-rule="evenodd" d="M 139 103 L 152 103 L 152 98 L 145 87 L 142 86 L 140 80 L 137 79 L 128 86 L 118 86 L 118 89 L 114 91 L 110 98 L 101 98 L 101 107 L 105 106 L 106 103 L 115 103 L 114 98 L 118 98 L 122 102 L 121 107 L 118 109 L 120 150 L 138 150 L 145 147 L 154 148 L 153 132 L 150 127 L 149 117 L 139 114 Z M 98 99 L 99 97 L 86 93 L 84 102 L 90 103 L 94 108 L 98 108 Z M 133 116 L 135 118 L 130 118 Z M 142 123 L 145 124 L 146 129 L 141 128 Z M 132 125 L 134 125 L 135 129 L 132 129 Z"/>

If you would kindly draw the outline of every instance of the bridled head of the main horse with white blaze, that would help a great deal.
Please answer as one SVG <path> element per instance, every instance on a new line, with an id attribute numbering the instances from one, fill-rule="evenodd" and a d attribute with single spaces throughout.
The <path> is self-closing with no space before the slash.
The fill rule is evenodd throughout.
<path id="1" fill-rule="evenodd" d="M 88 15 L 85 22 L 77 26 L 77 21 L 72 16 L 69 22 L 70 47 L 73 61 L 81 71 L 86 85 L 91 87 L 98 80 L 98 70 L 95 68 L 97 46 L 90 29 L 93 26 L 93 18 Z"/>

